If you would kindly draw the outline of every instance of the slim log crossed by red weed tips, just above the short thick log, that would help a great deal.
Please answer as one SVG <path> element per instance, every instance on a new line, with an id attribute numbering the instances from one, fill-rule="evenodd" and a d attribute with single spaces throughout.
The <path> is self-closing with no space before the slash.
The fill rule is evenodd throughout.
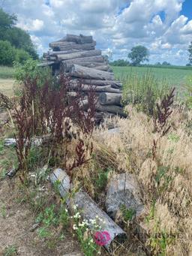
<path id="1" fill-rule="evenodd" d="M 80 86 L 79 83 L 75 82 L 73 80 L 71 80 L 71 88 L 72 89 L 78 89 L 78 87 Z M 118 89 L 114 89 L 111 86 L 92 86 L 92 89 L 95 90 L 95 92 L 113 92 L 113 93 L 121 93 L 120 90 Z M 89 92 L 91 90 L 91 86 L 88 84 L 82 84 L 82 90 L 83 92 Z"/>

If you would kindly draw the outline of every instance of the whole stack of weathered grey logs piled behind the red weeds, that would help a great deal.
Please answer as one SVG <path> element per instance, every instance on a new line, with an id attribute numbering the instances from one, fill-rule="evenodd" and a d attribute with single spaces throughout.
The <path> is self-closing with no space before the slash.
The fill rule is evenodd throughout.
<path id="1" fill-rule="evenodd" d="M 96 119 L 101 122 L 106 116 L 124 116 L 122 85 L 115 81 L 110 65 L 101 50 L 95 50 L 95 45 L 92 36 L 67 35 L 49 44 L 52 50 L 43 54 L 40 66 L 51 66 L 54 75 L 65 73 L 70 76 L 74 90 L 83 84 L 85 100 L 92 86 L 98 96 Z"/>

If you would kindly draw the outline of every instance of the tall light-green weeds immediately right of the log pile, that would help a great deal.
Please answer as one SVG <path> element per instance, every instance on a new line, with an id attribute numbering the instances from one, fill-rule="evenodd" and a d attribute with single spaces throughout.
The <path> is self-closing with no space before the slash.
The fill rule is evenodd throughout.
<path id="1" fill-rule="evenodd" d="M 123 102 L 133 104 L 137 110 L 154 116 L 157 101 L 163 98 L 169 91 L 166 80 L 159 81 L 150 72 L 142 77 L 138 74 L 130 74 L 124 80 Z"/>

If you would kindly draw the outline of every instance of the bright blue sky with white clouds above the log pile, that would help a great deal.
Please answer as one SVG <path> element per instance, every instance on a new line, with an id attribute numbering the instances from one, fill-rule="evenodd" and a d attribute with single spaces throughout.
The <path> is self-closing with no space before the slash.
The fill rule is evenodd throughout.
<path id="1" fill-rule="evenodd" d="M 127 59 L 138 44 L 150 63 L 186 65 L 192 41 L 191 0 L 7 0 L 5 11 L 18 15 L 42 54 L 49 42 L 67 33 L 93 35 L 97 47 L 113 59 Z"/>

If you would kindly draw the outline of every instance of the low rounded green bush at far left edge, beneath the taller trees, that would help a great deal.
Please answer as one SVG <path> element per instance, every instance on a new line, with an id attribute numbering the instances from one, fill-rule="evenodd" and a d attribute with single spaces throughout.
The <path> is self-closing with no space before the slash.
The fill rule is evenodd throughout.
<path id="1" fill-rule="evenodd" d="M 16 49 L 8 41 L 0 41 L 0 65 L 13 65 L 16 59 Z"/>

